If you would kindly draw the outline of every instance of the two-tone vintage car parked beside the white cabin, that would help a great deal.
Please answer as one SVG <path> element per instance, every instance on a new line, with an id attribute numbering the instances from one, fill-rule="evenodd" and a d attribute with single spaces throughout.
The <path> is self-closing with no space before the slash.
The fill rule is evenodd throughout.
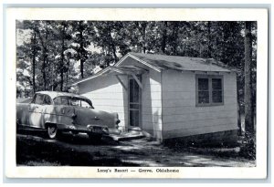
<path id="1" fill-rule="evenodd" d="M 47 130 L 50 139 L 61 132 L 82 132 L 99 140 L 117 130 L 119 122 L 117 113 L 94 109 L 90 99 L 72 93 L 39 91 L 30 102 L 16 104 L 17 128 Z"/>

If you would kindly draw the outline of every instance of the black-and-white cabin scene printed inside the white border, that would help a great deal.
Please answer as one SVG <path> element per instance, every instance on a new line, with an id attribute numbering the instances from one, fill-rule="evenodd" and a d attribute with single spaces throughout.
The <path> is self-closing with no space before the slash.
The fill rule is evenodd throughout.
<path id="1" fill-rule="evenodd" d="M 256 166 L 256 22 L 17 20 L 16 41 L 18 165 Z"/>

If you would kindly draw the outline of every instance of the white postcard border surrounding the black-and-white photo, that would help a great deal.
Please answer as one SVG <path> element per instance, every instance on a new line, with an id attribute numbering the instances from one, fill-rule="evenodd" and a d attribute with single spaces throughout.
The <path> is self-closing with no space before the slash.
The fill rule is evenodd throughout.
<path id="1" fill-rule="evenodd" d="M 181 20 L 258 21 L 257 166 L 130 167 L 135 172 L 100 173 L 98 169 L 129 167 L 17 167 L 16 166 L 16 20 Z M 263 179 L 267 176 L 268 125 L 268 10 L 252 8 L 7 8 L 5 53 L 5 175 L 16 178 L 175 178 Z M 177 173 L 157 169 L 178 169 Z M 153 173 L 139 172 L 152 169 Z"/>

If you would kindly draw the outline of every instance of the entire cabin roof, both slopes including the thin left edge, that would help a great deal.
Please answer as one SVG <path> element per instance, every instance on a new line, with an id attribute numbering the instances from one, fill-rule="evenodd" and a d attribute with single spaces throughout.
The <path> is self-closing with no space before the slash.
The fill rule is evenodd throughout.
<path id="1" fill-rule="evenodd" d="M 202 57 L 179 57 L 179 56 L 166 56 L 155 54 L 143 54 L 130 52 L 126 56 L 122 57 L 119 62 L 114 66 L 104 68 L 89 78 L 83 78 L 72 84 L 75 86 L 86 80 L 97 78 L 103 74 L 113 72 L 115 69 L 122 71 L 136 70 L 137 67 L 122 65 L 122 62 L 128 57 L 134 58 L 137 62 L 142 63 L 150 68 L 161 72 L 162 70 L 174 69 L 174 70 L 186 70 L 186 71 L 214 71 L 214 72 L 230 72 L 231 70 L 226 67 L 222 62 L 213 58 Z"/>

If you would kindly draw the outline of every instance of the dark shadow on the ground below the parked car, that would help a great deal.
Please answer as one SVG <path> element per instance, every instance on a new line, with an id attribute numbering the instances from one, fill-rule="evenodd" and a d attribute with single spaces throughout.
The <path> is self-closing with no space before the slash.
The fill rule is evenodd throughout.
<path id="1" fill-rule="evenodd" d="M 122 162 L 119 157 L 104 155 L 103 145 L 118 145 L 108 137 L 100 141 L 90 140 L 88 136 L 63 134 L 58 140 L 47 139 L 42 130 L 20 130 L 16 138 L 16 163 L 28 166 L 137 166 Z M 35 136 L 34 136 L 35 135 Z M 122 144 L 121 144 L 122 145 Z M 93 149 L 90 154 L 89 149 Z"/>

